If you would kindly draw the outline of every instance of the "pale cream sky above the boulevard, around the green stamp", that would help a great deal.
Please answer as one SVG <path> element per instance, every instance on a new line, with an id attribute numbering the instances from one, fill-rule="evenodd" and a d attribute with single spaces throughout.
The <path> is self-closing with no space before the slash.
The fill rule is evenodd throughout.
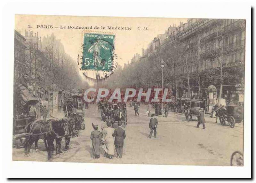
<path id="1" fill-rule="evenodd" d="M 77 55 L 81 55 L 83 35 L 88 32 L 115 34 L 115 54 L 117 54 L 118 65 L 124 66 L 134 54 L 141 55 L 141 48 L 147 49 L 149 42 L 158 34 L 164 34 L 165 30 L 172 25 L 180 25 L 180 21 L 187 19 L 177 18 L 134 18 L 134 17 L 84 17 L 84 16 L 49 16 L 49 15 L 16 15 L 15 29 L 25 35 L 25 30 L 38 32 L 41 39 L 52 33 L 60 39 L 64 45 L 65 52 L 74 61 Z M 49 27 L 53 28 L 42 28 Z M 66 29 L 60 28 L 66 26 Z M 68 26 L 100 27 L 100 29 L 68 29 Z M 131 30 L 103 30 L 102 27 L 131 27 Z M 138 30 L 140 27 L 142 30 Z M 147 30 L 143 30 L 147 27 Z M 139 28 L 139 29 L 140 29 Z M 79 68 L 78 68 L 79 69 Z"/>

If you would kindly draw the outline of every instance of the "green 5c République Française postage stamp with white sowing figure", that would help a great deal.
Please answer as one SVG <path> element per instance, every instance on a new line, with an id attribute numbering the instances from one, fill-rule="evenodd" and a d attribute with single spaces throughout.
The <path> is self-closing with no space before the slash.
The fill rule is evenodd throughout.
<path id="1" fill-rule="evenodd" d="M 84 33 L 83 70 L 111 71 L 114 34 Z"/>

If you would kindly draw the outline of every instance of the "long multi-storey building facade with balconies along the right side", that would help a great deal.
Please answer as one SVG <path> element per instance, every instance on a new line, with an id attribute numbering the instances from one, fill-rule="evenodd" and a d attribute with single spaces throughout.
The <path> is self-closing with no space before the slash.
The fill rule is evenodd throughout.
<path id="1" fill-rule="evenodd" d="M 164 83 L 172 85 L 176 97 L 207 98 L 208 86 L 214 85 L 227 105 L 243 102 L 245 20 L 188 19 L 170 26 L 142 49 L 140 61 L 162 58 Z M 151 85 L 161 86 L 160 69 L 153 74 Z"/>

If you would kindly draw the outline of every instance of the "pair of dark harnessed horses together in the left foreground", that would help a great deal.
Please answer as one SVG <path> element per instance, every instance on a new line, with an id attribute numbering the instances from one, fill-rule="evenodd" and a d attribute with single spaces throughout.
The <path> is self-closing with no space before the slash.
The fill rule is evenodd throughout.
<path id="1" fill-rule="evenodd" d="M 33 121 L 25 126 L 25 155 L 28 155 L 32 144 L 35 142 L 35 149 L 38 149 L 38 140 L 43 139 L 48 159 L 51 158 L 51 151 L 54 151 L 53 141 L 56 141 L 56 155 L 60 154 L 61 141 L 65 138 L 65 150 L 69 149 L 71 137 L 78 136 L 80 130 L 85 129 L 84 118 L 82 115 L 76 115 L 74 118 L 65 118 L 60 120 L 49 119 Z"/>

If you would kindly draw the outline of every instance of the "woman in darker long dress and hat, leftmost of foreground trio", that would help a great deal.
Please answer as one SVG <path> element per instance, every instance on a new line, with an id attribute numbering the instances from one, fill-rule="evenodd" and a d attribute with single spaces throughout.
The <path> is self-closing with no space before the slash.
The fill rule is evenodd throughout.
<path id="1" fill-rule="evenodd" d="M 92 149 L 93 149 L 93 159 L 100 158 L 100 144 L 101 144 L 101 133 L 98 130 L 98 125 L 93 125 L 94 131 L 91 133 Z"/>

